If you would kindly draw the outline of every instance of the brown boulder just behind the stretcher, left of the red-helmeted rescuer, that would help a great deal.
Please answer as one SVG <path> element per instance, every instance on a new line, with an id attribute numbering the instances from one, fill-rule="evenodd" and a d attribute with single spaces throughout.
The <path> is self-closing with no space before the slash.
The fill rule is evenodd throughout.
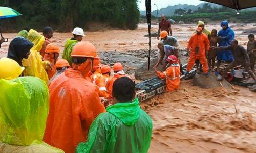
<path id="1" fill-rule="evenodd" d="M 148 66 L 148 63 L 145 62 L 143 63 L 141 66 L 139 66 L 137 68 L 137 70 L 135 71 L 135 78 L 138 79 L 138 80 L 147 80 L 147 79 L 150 79 L 150 78 L 153 78 L 153 77 L 156 77 L 157 74 L 156 72 L 154 71 L 154 65 L 157 64 L 158 62 L 158 58 L 154 58 L 151 60 L 150 62 L 150 70 L 148 71 L 147 70 L 147 66 Z M 164 71 L 164 66 L 162 66 L 161 64 L 157 67 L 157 69 L 159 71 Z"/>

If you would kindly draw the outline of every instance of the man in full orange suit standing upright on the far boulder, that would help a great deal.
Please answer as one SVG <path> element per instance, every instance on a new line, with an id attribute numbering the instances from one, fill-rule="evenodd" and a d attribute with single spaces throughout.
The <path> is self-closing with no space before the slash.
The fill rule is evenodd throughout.
<path id="1" fill-rule="evenodd" d="M 210 49 L 210 42 L 208 36 L 202 33 L 202 27 L 197 27 L 197 33 L 193 34 L 187 44 L 187 52 L 190 52 L 190 57 L 187 63 L 187 73 L 191 70 L 195 61 L 198 59 L 203 65 L 203 72 L 206 77 L 208 74 L 208 63 L 206 55 Z M 190 51 L 189 51 L 190 50 Z"/>

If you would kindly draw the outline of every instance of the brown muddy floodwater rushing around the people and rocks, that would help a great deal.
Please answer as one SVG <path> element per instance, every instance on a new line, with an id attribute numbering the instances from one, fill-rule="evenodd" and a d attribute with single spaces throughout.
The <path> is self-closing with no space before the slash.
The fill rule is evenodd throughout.
<path id="1" fill-rule="evenodd" d="M 255 24 L 230 25 L 239 44 L 246 46 L 248 34 L 242 34 L 242 30 Z M 186 48 L 195 28 L 194 24 L 173 25 L 181 48 Z M 221 27 L 218 23 L 206 28 L 219 31 Z M 152 26 L 154 31 L 157 25 Z M 102 63 L 122 62 L 132 75 L 147 60 L 146 34 L 147 25 L 140 24 L 135 31 L 86 32 L 83 41 L 96 46 Z M 3 36 L 10 42 L 16 33 Z M 54 33 L 51 41 L 63 50 L 66 39 L 71 37 L 71 33 Z M 7 55 L 9 42 L 2 44 L 0 57 Z M 158 42 L 152 37 L 152 58 L 156 57 Z M 178 91 L 141 103 L 154 124 L 150 152 L 256 152 L 256 93 L 238 86 L 236 91 L 223 87 L 202 89 L 191 82 L 182 81 Z"/>

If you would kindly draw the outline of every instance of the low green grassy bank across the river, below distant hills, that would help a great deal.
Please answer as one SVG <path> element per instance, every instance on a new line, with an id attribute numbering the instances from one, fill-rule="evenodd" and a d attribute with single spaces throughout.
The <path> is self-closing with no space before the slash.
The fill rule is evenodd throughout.
<path id="1" fill-rule="evenodd" d="M 223 21 L 228 20 L 231 22 L 255 23 L 256 11 L 242 11 L 240 15 L 236 12 L 219 12 L 219 13 L 194 13 L 183 16 L 170 17 L 176 22 L 183 21 L 185 23 L 196 22 L 201 19 L 204 21 Z"/>

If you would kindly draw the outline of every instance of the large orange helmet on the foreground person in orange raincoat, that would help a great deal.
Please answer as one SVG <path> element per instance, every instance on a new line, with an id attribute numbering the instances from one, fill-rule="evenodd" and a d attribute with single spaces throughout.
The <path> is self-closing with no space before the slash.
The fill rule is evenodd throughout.
<path id="1" fill-rule="evenodd" d="M 88 57 L 98 59 L 95 46 L 89 41 L 81 41 L 75 44 L 71 57 Z"/>

